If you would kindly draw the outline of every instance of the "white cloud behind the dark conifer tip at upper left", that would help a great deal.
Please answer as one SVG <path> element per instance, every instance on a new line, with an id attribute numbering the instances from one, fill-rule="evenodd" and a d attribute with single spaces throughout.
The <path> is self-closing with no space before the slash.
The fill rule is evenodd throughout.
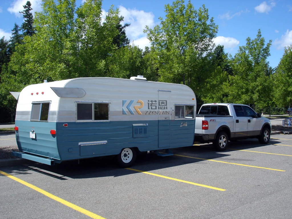
<path id="1" fill-rule="evenodd" d="M 19 13 L 20 11 L 23 11 L 23 6 L 26 4 L 27 0 L 17 0 L 14 1 L 10 8 L 7 8 L 7 10 L 12 14 L 14 13 L 16 17 L 22 17 L 22 14 Z M 41 0 L 30 0 L 30 3 L 32 4 L 32 14 L 34 15 L 34 12 L 41 11 Z"/>

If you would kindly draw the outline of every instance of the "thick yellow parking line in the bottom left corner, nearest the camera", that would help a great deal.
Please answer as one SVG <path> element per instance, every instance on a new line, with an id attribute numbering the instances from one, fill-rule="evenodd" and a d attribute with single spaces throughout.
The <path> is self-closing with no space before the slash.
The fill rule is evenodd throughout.
<path id="1" fill-rule="evenodd" d="M 69 208 L 72 208 L 72 209 L 74 209 L 74 210 L 76 210 L 76 211 L 79 211 L 80 213 L 85 214 L 85 215 L 87 215 L 88 217 L 95 218 L 95 219 L 105 219 L 105 218 L 103 218 L 103 217 L 101 217 L 101 216 L 99 216 L 99 215 L 97 215 L 97 214 L 95 214 L 95 213 L 92 213 L 92 212 L 90 212 L 90 211 L 87 211 L 87 210 L 84 209 L 84 208 L 81 208 L 81 207 L 79 207 L 79 206 L 77 206 L 77 205 L 74 205 L 74 204 L 70 203 L 69 201 L 65 201 L 64 199 L 61 199 L 61 198 L 59 198 L 59 197 L 57 197 L 57 196 L 55 196 L 55 195 L 53 195 L 53 194 L 51 194 L 51 193 L 48 193 L 48 192 L 46 192 L 45 190 L 40 189 L 39 187 L 36 187 L 36 186 L 34 186 L 34 185 L 30 184 L 30 183 L 27 183 L 27 182 L 25 182 L 25 181 L 23 181 L 23 180 L 21 180 L 21 179 L 18 179 L 18 178 L 16 178 L 16 177 L 13 176 L 13 175 L 10 175 L 10 174 L 8 174 L 8 173 L 5 173 L 5 172 L 3 172 L 3 171 L 1 171 L 1 170 L 0 170 L 0 173 L 1 173 L 2 175 L 4 175 L 4 176 L 7 176 L 7 177 L 9 177 L 9 178 L 11 178 L 11 179 L 17 181 L 18 183 L 21 183 L 21 184 L 23 184 L 23 185 L 25 185 L 25 186 L 27 186 L 27 187 L 29 187 L 29 188 L 31 188 L 31 189 L 37 191 L 37 192 L 40 192 L 41 194 L 44 194 L 45 196 L 47 196 L 47 197 L 49 197 L 49 198 L 51 198 L 51 199 L 53 199 L 53 200 L 55 200 L 55 201 L 60 202 L 60 203 L 63 204 L 63 205 L 68 206 Z"/>

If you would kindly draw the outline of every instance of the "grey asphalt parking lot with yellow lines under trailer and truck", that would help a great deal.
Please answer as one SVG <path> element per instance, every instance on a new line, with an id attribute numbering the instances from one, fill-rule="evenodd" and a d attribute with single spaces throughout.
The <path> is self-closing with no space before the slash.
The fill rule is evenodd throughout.
<path id="1" fill-rule="evenodd" d="M 292 135 L 110 158 L 0 168 L 0 218 L 292 218 Z"/>

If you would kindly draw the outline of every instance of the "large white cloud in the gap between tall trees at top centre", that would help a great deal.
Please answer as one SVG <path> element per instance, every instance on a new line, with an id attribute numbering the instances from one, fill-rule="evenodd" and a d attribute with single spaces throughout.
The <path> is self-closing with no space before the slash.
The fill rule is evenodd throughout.
<path id="1" fill-rule="evenodd" d="M 152 12 L 145 12 L 143 10 L 137 9 L 126 9 L 123 6 L 119 6 L 120 15 L 124 17 L 124 23 L 131 24 L 129 27 L 126 27 L 126 35 L 131 41 L 131 44 L 139 46 L 139 48 L 144 49 L 145 46 L 150 46 L 149 40 L 146 38 L 146 34 L 143 33 L 145 26 L 148 25 L 150 28 L 153 28 L 154 23 L 154 14 Z"/>

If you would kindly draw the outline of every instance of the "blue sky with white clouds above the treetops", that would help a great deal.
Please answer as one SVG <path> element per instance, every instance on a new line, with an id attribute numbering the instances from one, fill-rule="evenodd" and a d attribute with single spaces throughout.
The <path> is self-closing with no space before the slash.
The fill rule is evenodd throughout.
<path id="1" fill-rule="evenodd" d="M 0 37 L 10 39 L 14 23 L 19 26 L 23 22 L 23 5 L 27 0 L 0 0 Z M 84 0 L 77 0 L 77 7 Z M 30 0 L 33 11 L 41 11 L 41 0 Z M 130 23 L 126 34 L 131 43 L 144 49 L 150 43 L 143 34 L 145 25 L 154 27 L 159 24 L 159 17 L 164 17 L 164 5 L 172 4 L 166 0 L 104 0 L 103 9 L 106 12 L 111 5 L 119 8 L 124 21 Z M 187 1 L 186 1 L 187 2 Z M 266 43 L 271 39 L 270 66 L 276 67 L 283 55 L 284 47 L 292 44 L 292 1 L 229 1 L 229 0 L 191 0 L 195 9 L 205 4 L 210 17 L 219 26 L 215 44 L 224 45 L 225 52 L 234 56 L 239 46 L 246 44 L 246 38 L 256 38 L 258 29 Z"/>

